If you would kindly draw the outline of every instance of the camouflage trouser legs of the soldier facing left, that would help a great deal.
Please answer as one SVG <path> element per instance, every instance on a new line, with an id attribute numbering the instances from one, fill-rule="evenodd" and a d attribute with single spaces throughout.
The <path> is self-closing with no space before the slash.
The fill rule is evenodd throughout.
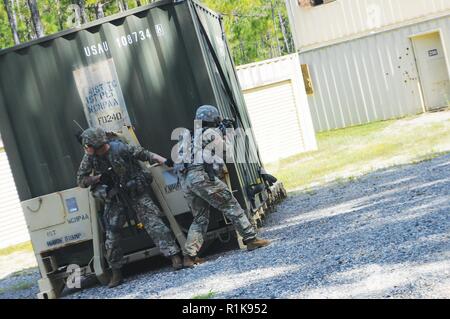
<path id="1" fill-rule="evenodd" d="M 180 252 L 171 230 L 164 224 L 160 209 L 153 203 L 148 194 L 132 198 L 133 209 L 139 222 L 144 225 L 154 244 L 161 253 L 170 257 Z M 120 246 L 122 229 L 126 223 L 126 206 L 119 201 L 111 201 L 105 205 L 103 223 L 106 228 L 106 259 L 112 269 L 120 269 L 124 265 L 123 250 Z"/>

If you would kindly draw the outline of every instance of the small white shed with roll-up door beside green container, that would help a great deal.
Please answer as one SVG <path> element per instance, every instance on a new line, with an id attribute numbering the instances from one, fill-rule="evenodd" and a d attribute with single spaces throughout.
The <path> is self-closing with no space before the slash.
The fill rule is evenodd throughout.
<path id="1" fill-rule="evenodd" d="M 237 73 L 263 162 L 317 149 L 297 54 L 243 65 Z"/>

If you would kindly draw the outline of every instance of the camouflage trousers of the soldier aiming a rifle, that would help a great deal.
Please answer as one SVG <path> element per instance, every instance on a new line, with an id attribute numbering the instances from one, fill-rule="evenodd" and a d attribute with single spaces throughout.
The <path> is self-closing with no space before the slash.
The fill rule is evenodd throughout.
<path id="1" fill-rule="evenodd" d="M 222 212 L 233 223 L 244 242 L 256 237 L 255 228 L 224 182 L 218 178 L 212 182 L 203 169 L 194 169 L 187 173 L 182 184 L 186 200 L 194 215 L 184 254 L 196 256 L 200 251 L 208 230 L 211 206 Z"/>

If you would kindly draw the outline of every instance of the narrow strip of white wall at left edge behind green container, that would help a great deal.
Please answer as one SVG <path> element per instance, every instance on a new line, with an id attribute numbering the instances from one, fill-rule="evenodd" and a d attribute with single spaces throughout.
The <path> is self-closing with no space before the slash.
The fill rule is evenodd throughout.
<path id="1" fill-rule="evenodd" d="M 6 153 L 0 149 L 0 248 L 30 240 Z"/>

